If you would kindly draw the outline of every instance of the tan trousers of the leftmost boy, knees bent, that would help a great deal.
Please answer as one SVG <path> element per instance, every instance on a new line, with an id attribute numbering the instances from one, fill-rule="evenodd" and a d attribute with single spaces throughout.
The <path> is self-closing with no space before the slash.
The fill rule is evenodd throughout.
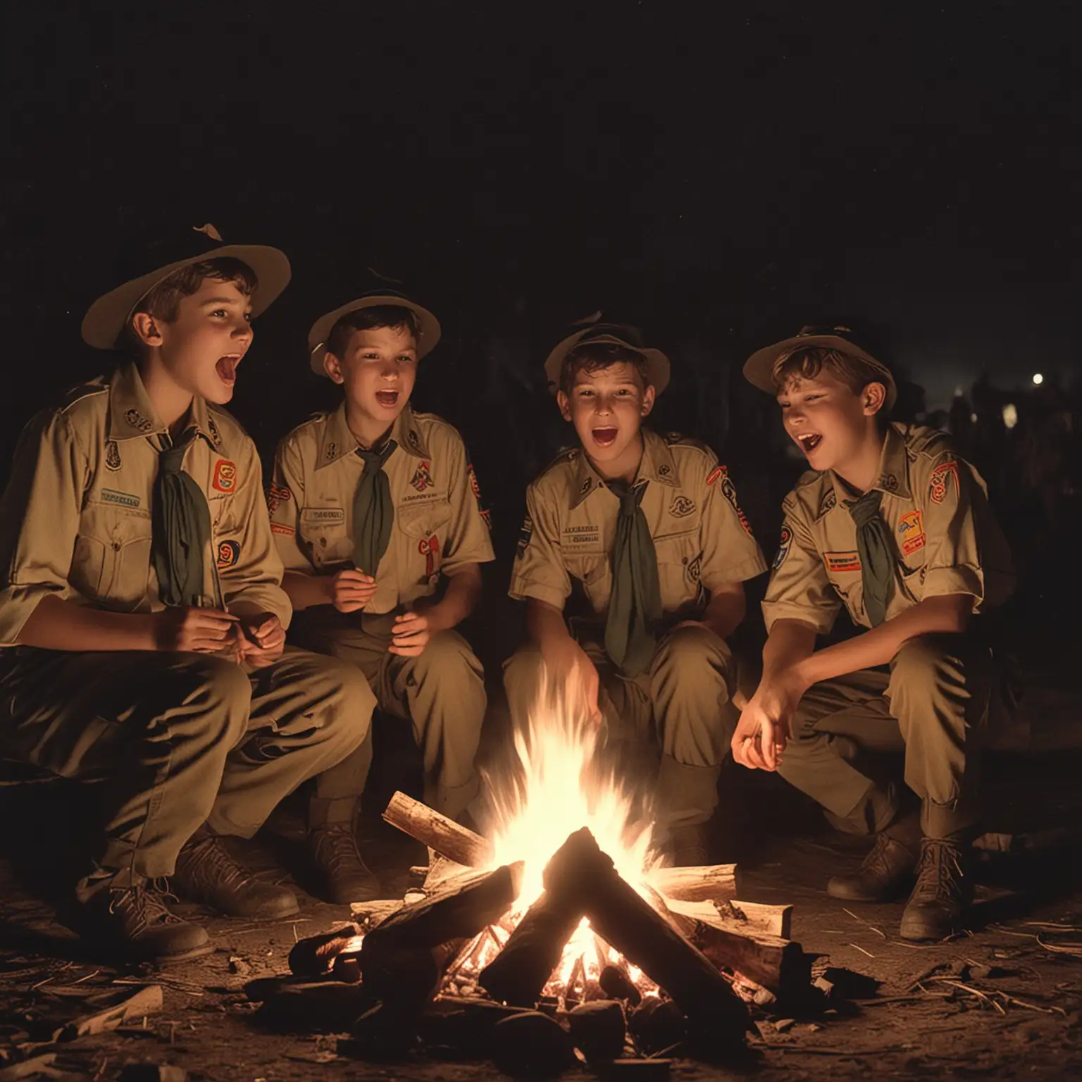
<path id="1" fill-rule="evenodd" d="M 368 733 L 355 670 L 290 650 L 251 674 L 201 654 L 0 654 L 0 755 L 108 778 L 102 868 L 155 879 L 208 822 L 250 837 Z"/>

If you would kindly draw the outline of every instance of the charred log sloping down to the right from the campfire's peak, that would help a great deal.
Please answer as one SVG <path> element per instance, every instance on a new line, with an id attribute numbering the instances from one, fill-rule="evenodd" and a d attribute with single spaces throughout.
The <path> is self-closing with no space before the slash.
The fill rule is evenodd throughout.
<path id="1" fill-rule="evenodd" d="M 685 1014 L 709 1016 L 726 1043 L 740 1042 L 748 1008 L 716 966 L 617 873 L 583 827 L 567 841 L 566 867 L 591 927 L 663 988 Z"/>

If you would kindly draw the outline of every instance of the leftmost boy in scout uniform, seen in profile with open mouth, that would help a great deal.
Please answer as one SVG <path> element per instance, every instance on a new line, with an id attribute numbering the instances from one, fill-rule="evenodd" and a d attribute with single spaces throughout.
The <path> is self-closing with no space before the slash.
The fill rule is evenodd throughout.
<path id="1" fill-rule="evenodd" d="M 0 504 L 0 754 L 111 776 L 75 920 L 136 956 L 211 950 L 156 885 L 174 871 L 173 889 L 226 913 L 296 911 L 221 835 L 254 834 L 371 710 L 347 665 L 282 656 L 259 458 L 220 407 L 289 263 L 211 238 L 193 230 L 183 258 L 91 306 L 84 340 L 135 358 L 30 422 Z"/>

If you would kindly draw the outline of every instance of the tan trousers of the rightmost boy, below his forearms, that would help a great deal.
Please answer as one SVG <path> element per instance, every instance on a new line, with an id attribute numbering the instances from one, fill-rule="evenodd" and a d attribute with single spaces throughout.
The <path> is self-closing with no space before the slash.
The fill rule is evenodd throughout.
<path id="1" fill-rule="evenodd" d="M 903 751 L 905 781 L 923 803 L 925 835 L 964 833 L 979 817 L 978 751 L 991 677 L 991 655 L 973 636 L 911 639 L 889 675 L 861 670 L 813 685 L 778 773 L 836 826 L 869 833 L 898 812 L 875 753 Z"/>

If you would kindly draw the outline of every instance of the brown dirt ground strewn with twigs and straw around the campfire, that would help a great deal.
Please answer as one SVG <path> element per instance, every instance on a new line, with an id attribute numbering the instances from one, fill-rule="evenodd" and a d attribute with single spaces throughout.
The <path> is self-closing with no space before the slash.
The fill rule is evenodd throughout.
<path id="1" fill-rule="evenodd" d="M 858 861 L 863 844 L 833 833 L 777 779 L 727 773 L 728 829 L 718 844 L 738 850 L 740 896 L 794 903 L 793 938 L 822 955 L 819 967 L 870 979 L 850 977 L 847 998 L 826 1012 L 795 1019 L 757 1013 L 745 1061 L 707 1066 L 677 1058 L 672 1078 L 1082 1076 L 1082 718 L 1076 696 L 1051 689 L 1050 682 L 1041 686 L 1029 703 L 1030 739 L 1015 741 L 1026 747 L 1001 749 L 987 769 L 987 829 L 1012 834 L 1016 847 L 1028 839 L 1031 847 L 984 857 L 973 932 L 951 942 L 899 940 L 900 905 L 844 907 L 829 899 L 822 890 L 827 878 Z M 64 844 L 74 844 L 78 833 L 70 801 L 51 784 L 0 790 L 0 821 L 6 824 L 0 859 L 0 1068 L 54 1053 L 48 1068 L 53 1073 L 42 1077 L 95 1082 L 117 1079 L 136 1063 L 176 1065 L 193 1079 L 223 1082 L 498 1077 L 491 1064 L 423 1056 L 366 1064 L 338 1055 L 335 1034 L 261 1027 L 243 985 L 287 972 L 296 937 L 348 915 L 303 892 L 302 912 L 291 921 L 253 925 L 208 916 L 215 951 L 200 960 L 131 972 L 95 958 L 45 900 L 58 896 Z M 283 809 L 270 827 L 245 857 L 261 874 L 282 879 L 283 867 L 299 867 L 295 808 Z M 394 840 L 372 830 L 381 859 L 396 859 L 390 852 Z M 115 1032 L 49 1043 L 57 1024 L 88 1013 L 91 994 L 142 981 L 162 986 L 160 1013 Z M 0 1069 L 0 1080 L 10 1077 L 29 1076 Z M 565 1076 L 591 1077 L 586 1070 Z"/>

